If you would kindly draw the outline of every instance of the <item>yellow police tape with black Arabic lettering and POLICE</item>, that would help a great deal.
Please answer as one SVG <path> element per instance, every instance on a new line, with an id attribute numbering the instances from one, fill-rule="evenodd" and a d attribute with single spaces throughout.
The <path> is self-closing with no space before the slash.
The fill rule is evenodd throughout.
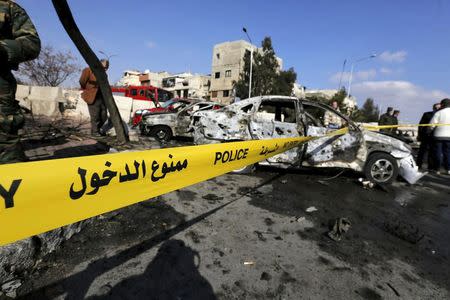
<path id="1" fill-rule="evenodd" d="M 0 245 L 228 173 L 311 139 L 232 142 L 1 165 Z"/>

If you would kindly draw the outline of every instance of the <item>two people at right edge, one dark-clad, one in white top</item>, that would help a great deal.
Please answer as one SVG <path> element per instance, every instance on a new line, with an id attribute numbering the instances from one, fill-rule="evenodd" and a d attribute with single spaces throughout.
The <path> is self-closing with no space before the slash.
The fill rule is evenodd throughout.
<path id="1" fill-rule="evenodd" d="M 433 110 L 420 119 L 418 140 L 420 141 L 417 165 L 423 167 L 428 153 L 428 170 L 440 174 L 441 168 L 450 175 L 450 99 L 433 105 Z"/>

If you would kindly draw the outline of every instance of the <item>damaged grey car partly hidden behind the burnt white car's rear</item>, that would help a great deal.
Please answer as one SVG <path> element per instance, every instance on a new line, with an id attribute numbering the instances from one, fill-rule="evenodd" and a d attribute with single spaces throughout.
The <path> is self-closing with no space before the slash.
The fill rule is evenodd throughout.
<path id="1" fill-rule="evenodd" d="M 190 128 L 192 114 L 222 107 L 223 105 L 215 102 L 179 100 L 170 110 L 143 116 L 139 129 L 141 134 L 163 142 L 169 141 L 174 136 L 192 137 L 193 130 Z"/>

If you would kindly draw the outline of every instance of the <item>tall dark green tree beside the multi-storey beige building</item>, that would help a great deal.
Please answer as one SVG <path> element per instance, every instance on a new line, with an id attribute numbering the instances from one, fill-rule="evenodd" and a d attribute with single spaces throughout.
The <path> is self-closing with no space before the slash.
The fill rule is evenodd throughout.
<path id="1" fill-rule="evenodd" d="M 279 64 L 270 37 L 264 38 L 262 49 L 253 53 L 252 95 L 286 95 L 292 94 L 297 74 L 293 68 L 279 71 Z M 250 52 L 244 56 L 244 69 L 239 80 L 234 84 L 236 96 L 248 98 L 250 78 Z"/>

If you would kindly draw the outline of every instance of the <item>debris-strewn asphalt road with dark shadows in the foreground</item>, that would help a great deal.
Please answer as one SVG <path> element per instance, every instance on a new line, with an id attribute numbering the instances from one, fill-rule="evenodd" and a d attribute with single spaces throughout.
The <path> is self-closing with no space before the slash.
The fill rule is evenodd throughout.
<path id="1" fill-rule="evenodd" d="M 450 177 L 364 189 L 357 175 L 337 173 L 229 174 L 101 216 L 18 294 L 449 299 Z M 351 227 L 336 242 L 326 233 L 341 217 Z"/>

